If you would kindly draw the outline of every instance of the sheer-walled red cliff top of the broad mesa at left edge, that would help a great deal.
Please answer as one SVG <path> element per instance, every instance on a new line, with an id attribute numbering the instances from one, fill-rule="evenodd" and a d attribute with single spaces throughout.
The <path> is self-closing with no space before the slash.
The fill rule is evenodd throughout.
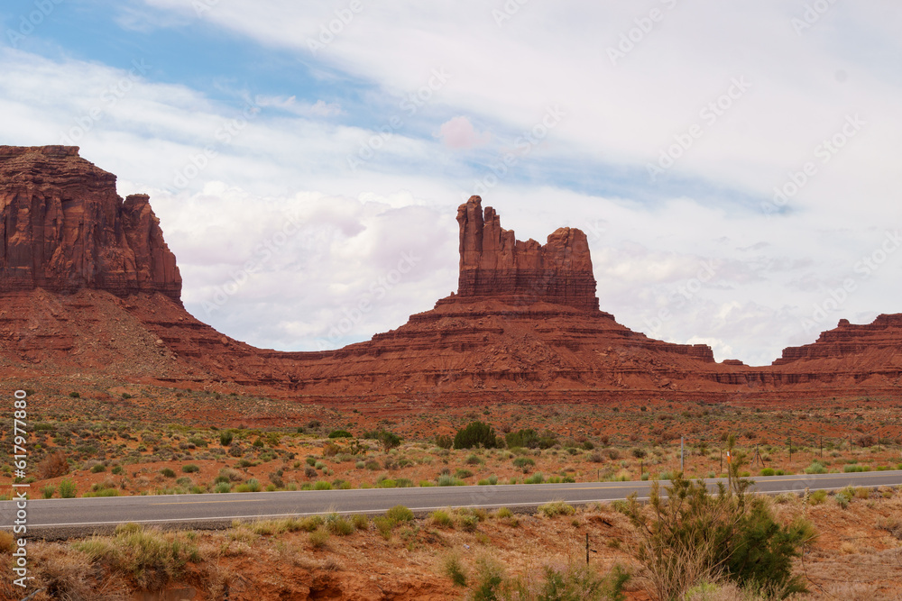
<path id="1" fill-rule="evenodd" d="M 0 146 L 0 293 L 95 288 L 180 303 L 179 268 L 148 196 L 123 201 L 115 180 L 77 146 Z"/>

